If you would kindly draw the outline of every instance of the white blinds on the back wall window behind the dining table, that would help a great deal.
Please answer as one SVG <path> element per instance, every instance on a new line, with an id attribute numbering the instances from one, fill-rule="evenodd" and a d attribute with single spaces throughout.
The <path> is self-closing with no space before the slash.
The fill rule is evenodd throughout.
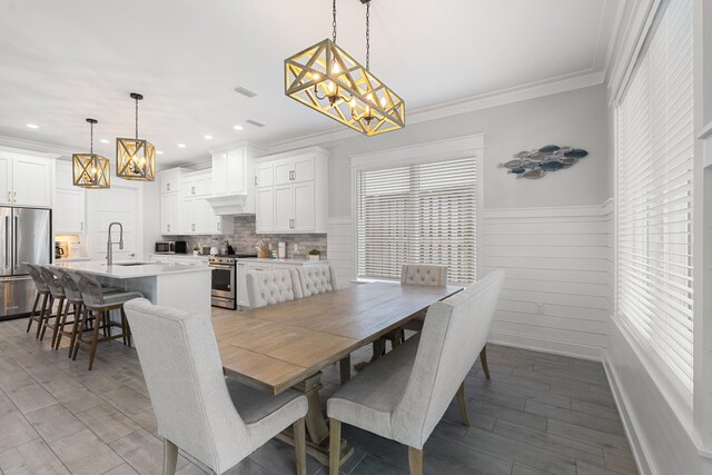
<path id="1" fill-rule="evenodd" d="M 358 276 L 400 278 L 406 264 L 475 281 L 475 158 L 357 172 Z"/>

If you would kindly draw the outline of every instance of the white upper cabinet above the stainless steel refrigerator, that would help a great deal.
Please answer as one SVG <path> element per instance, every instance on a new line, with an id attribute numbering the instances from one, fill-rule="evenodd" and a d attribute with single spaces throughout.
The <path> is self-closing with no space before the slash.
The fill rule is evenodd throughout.
<path id="1" fill-rule="evenodd" d="M 55 160 L 0 151 L 0 205 L 49 208 Z"/>

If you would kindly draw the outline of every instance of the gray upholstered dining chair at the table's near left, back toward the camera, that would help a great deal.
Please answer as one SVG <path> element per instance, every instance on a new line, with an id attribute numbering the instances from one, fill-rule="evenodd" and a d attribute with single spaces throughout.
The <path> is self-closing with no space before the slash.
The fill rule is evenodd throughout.
<path id="1" fill-rule="evenodd" d="M 210 317 L 134 299 L 125 306 L 164 438 L 164 474 L 178 448 L 226 473 L 294 424 L 297 473 L 306 474 L 307 398 L 278 396 L 226 380 Z"/>

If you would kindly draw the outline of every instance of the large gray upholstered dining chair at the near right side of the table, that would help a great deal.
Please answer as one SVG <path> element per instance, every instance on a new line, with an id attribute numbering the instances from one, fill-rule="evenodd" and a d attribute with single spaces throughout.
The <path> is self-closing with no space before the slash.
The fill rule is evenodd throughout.
<path id="1" fill-rule="evenodd" d="M 504 270 L 431 305 L 423 331 L 372 363 L 327 403 L 330 435 L 342 423 L 409 447 L 411 474 L 423 473 L 423 445 L 457 395 L 468 425 L 463 382 L 487 342 Z M 329 451 L 329 474 L 338 474 L 339 452 Z"/>

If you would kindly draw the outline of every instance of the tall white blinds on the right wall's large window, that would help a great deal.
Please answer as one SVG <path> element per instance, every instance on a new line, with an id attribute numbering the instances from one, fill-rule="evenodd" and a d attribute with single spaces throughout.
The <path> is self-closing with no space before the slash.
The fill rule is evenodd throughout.
<path id="1" fill-rule="evenodd" d="M 659 13 L 617 107 L 617 313 L 690 394 L 692 3 Z"/>

